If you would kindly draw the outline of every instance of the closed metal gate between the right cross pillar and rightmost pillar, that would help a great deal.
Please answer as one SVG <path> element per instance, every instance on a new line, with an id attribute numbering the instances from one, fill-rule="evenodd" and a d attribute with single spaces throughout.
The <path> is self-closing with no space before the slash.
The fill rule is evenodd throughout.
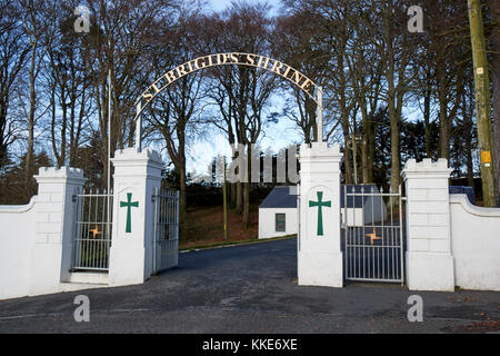
<path id="1" fill-rule="evenodd" d="M 406 199 L 374 185 L 343 186 L 342 250 L 348 280 L 404 281 Z"/>

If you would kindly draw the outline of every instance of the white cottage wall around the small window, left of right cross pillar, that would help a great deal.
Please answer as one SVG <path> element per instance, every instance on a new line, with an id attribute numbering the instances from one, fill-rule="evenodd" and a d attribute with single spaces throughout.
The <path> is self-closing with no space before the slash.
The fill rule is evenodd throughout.
<path id="1" fill-rule="evenodd" d="M 276 214 L 286 214 L 284 231 L 276 231 Z M 259 208 L 259 238 L 297 234 L 299 228 L 297 208 Z"/>

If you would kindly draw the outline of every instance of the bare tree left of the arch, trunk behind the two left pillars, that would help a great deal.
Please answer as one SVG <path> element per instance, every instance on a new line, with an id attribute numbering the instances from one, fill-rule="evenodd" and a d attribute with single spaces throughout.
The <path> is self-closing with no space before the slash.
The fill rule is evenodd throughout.
<path id="1" fill-rule="evenodd" d="M 169 23 L 172 1 L 152 0 L 89 0 L 90 33 L 82 34 L 84 61 L 91 82 L 102 139 L 101 159 L 108 158 L 108 137 L 111 150 L 133 144 L 136 123 L 134 102 L 150 83 L 152 66 L 147 50 L 158 29 Z M 111 70 L 111 132 L 108 132 L 108 72 Z M 108 171 L 104 165 L 102 181 Z"/>

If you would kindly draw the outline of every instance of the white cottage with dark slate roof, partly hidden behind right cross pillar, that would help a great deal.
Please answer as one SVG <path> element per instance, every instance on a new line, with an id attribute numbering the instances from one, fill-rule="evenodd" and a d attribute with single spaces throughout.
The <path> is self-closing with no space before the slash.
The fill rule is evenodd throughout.
<path id="1" fill-rule="evenodd" d="M 362 191 L 367 195 L 362 195 Z M 379 192 L 374 185 L 341 185 L 342 225 L 346 224 L 346 210 L 348 227 L 360 227 L 386 220 L 387 207 L 382 197 L 378 195 Z M 259 206 L 259 238 L 297 234 L 298 218 L 297 187 L 274 187 Z"/>

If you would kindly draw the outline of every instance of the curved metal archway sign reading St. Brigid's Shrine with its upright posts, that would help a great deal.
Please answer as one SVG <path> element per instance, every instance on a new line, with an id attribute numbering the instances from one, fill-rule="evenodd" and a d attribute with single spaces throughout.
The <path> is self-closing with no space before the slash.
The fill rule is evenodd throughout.
<path id="1" fill-rule="evenodd" d="M 203 57 L 196 58 L 183 65 L 180 65 L 159 79 L 157 79 L 148 89 L 142 92 L 142 95 L 136 100 L 137 113 L 136 120 L 136 146 L 138 150 L 141 150 L 141 112 L 144 110 L 149 103 L 158 96 L 161 91 L 167 89 L 171 83 L 176 82 L 180 78 L 188 76 L 194 71 L 216 67 L 216 66 L 248 66 L 256 67 L 273 72 L 288 81 L 296 85 L 301 89 L 307 96 L 309 96 L 318 106 L 318 141 L 322 141 L 322 89 L 317 86 L 311 79 L 306 75 L 301 73 L 299 70 L 279 61 L 271 59 L 266 56 L 253 55 L 253 53 L 242 53 L 242 52 L 230 52 L 230 53 L 217 53 L 208 55 Z"/>

